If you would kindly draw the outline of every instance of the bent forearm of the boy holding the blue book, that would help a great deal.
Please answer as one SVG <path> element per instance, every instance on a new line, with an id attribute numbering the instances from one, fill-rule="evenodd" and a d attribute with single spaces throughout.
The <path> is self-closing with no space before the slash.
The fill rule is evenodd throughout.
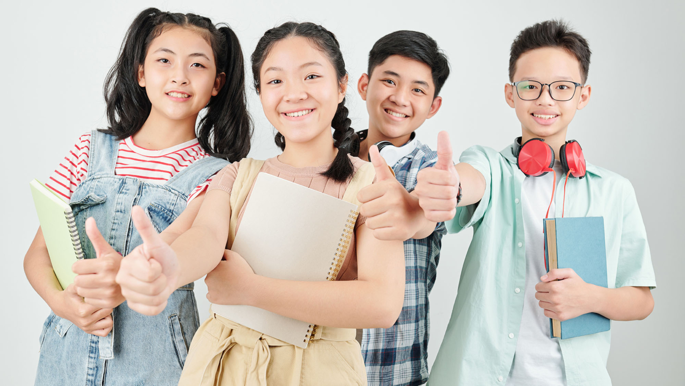
<path id="1" fill-rule="evenodd" d="M 593 312 L 612 320 L 642 320 L 654 308 L 649 287 L 594 288 Z"/>

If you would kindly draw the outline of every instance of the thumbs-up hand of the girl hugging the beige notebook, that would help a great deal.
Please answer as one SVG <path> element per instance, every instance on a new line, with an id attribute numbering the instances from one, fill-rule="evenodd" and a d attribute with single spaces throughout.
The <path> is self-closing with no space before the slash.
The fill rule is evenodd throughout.
<path id="1" fill-rule="evenodd" d="M 131 217 L 142 244 L 123 258 L 116 282 L 130 309 L 157 315 L 164 311 L 166 300 L 177 288 L 178 258 L 140 206 L 134 206 Z"/>

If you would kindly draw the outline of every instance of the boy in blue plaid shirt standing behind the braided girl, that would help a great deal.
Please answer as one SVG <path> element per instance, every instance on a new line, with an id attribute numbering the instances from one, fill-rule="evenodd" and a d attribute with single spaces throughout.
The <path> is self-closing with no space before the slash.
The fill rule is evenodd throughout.
<path id="1" fill-rule="evenodd" d="M 449 63 L 435 40 L 421 32 L 397 31 L 373 45 L 368 73 L 358 82 L 369 111 L 369 130 L 358 133 L 359 157 L 370 159 L 369 147 L 388 141 L 382 154 L 397 178 L 360 191 L 361 213 L 375 237 L 406 240 L 406 287 L 399 319 L 390 328 L 363 330 L 369 385 L 423 385 L 428 378 L 428 294 L 436 279 L 445 225 L 428 221 L 411 193 L 419 170 L 438 162 L 438 154 L 416 140 L 414 130 L 440 109 L 438 93 L 448 75 Z M 442 158 L 452 167 L 451 159 Z M 386 199 L 384 204 L 375 204 L 380 196 Z"/>

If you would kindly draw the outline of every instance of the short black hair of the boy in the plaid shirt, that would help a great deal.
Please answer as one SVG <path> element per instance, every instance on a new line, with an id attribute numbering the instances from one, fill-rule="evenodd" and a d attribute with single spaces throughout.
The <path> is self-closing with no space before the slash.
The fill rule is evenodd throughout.
<path id="1" fill-rule="evenodd" d="M 379 38 L 369 51 L 369 77 L 373 69 L 393 55 L 416 60 L 430 67 L 435 85 L 433 97 L 438 96 L 449 76 L 449 62 L 445 52 L 433 38 L 416 31 L 395 31 Z"/>

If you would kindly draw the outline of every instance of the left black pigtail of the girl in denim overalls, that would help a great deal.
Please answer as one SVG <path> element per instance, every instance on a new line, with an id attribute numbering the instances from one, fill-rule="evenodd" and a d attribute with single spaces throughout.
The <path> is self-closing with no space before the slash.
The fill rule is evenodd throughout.
<path id="1" fill-rule="evenodd" d="M 155 19 L 162 14 L 166 12 L 147 8 L 136 16 L 121 44 L 119 57 L 105 79 L 103 94 L 109 127 L 100 131 L 112 134 L 119 140 L 138 132 L 150 114 L 152 104 L 145 88 L 138 85 L 138 69 L 145 62 Z"/>

